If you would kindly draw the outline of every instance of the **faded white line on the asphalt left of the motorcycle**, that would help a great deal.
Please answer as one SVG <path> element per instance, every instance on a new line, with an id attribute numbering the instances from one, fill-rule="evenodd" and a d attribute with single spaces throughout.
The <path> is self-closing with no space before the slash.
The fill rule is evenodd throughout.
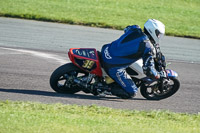
<path id="1" fill-rule="evenodd" d="M 40 58 L 55 60 L 56 62 L 58 62 L 60 64 L 65 64 L 68 62 L 67 60 L 64 60 L 60 56 L 54 55 L 54 54 L 47 54 L 47 53 L 43 53 L 43 52 L 38 52 L 38 51 L 33 51 L 33 50 L 25 50 L 25 49 L 14 49 L 14 48 L 4 48 L 4 47 L 0 47 L 0 48 L 5 49 L 5 50 L 10 50 L 10 51 L 16 51 L 16 52 L 20 52 L 20 53 L 25 53 L 25 54 L 37 56 Z"/>

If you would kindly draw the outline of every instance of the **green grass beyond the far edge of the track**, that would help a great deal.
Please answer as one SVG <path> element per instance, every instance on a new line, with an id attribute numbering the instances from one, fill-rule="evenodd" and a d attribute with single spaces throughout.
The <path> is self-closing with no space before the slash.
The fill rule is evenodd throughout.
<path id="1" fill-rule="evenodd" d="M 166 33 L 200 38 L 200 0 L 0 0 L 0 16 L 123 29 L 148 18 Z"/>

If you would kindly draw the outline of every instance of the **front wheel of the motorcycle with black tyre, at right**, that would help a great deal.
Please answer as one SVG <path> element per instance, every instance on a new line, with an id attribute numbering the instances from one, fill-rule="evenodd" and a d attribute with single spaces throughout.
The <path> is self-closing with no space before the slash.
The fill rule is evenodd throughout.
<path id="1" fill-rule="evenodd" d="M 148 100 L 161 100 L 175 94 L 180 88 L 180 82 L 177 78 L 170 78 L 164 83 L 164 89 L 159 88 L 160 85 L 145 85 L 142 84 L 140 92 L 143 97 Z"/>

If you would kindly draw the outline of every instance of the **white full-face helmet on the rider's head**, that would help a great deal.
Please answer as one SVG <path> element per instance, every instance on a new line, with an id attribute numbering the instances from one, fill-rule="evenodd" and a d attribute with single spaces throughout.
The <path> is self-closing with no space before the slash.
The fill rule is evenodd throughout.
<path id="1" fill-rule="evenodd" d="M 159 40 L 161 40 L 165 34 L 165 25 L 155 19 L 148 19 L 144 24 L 144 31 L 148 32 L 151 36 L 150 39 L 153 39 L 155 44 L 159 44 Z"/>

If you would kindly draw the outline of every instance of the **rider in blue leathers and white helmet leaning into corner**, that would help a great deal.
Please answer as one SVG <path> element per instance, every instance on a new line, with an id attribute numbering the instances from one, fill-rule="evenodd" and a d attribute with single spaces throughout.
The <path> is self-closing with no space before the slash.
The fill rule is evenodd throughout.
<path id="1" fill-rule="evenodd" d="M 144 32 L 138 25 L 127 26 L 124 34 L 101 49 L 103 67 L 107 74 L 121 87 L 111 90 L 113 95 L 121 98 L 134 97 L 137 86 L 127 74 L 126 68 L 138 59 L 143 59 L 143 71 L 152 79 L 160 75 L 154 67 L 155 47 L 164 36 L 165 25 L 155 19 L 148 19 L 144 24 Z"/>

